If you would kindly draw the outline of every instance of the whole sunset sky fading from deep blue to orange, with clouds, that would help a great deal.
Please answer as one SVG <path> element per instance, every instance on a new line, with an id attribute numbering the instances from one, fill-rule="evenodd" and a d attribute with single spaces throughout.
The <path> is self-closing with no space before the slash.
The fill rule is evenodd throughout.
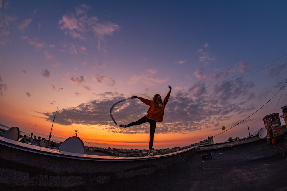
<path id="1" fill-rule="evenodd" d="M 0 123 L 48 139 L 58 108 L 52 141 L 77 130 L 87 146 L 148 149 L 148 123 L 120 128 L 110 107 L 163 99 L 171 85 L 155 149 L 247 137 L 287 105 L 286 10 L 287 1 L 0 0 Z M 128 99 L 113 116 L 127 124 L 147 109 Z"/>

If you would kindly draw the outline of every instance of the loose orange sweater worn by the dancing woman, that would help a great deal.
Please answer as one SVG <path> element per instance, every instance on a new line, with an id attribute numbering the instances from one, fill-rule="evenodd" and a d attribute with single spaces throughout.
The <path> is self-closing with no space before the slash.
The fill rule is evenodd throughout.
<path id="1" fill-rule="evenodd" d="M 155 121 L 162 122 L 163 120 L 163 114 L 164 114 L 164 107 L 166 106 L 166 103 L 168 102 L 168 99 L 170 97 L 170 92 L 167 93 L 166 97 L 163 100 L 162 105 L 160 102 L 158 102 L 158 105 L 154 105 L 152 100 L 148 100 L 142 97 L 139 97 L 139 100 L 144 102 L 146 105 L 149 105 L 147 115 L 146 117 Z"/>

